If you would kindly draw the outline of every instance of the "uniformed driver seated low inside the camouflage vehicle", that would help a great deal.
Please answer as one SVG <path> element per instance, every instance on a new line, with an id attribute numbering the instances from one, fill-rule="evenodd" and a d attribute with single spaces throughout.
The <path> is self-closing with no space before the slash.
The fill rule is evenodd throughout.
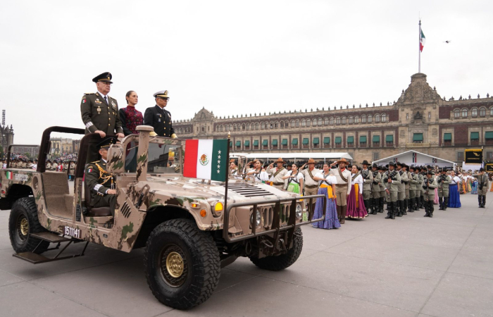
<path id="1" fill-rule="evenodd" d="M 106 171 L 106 159 L 108 158 L 108 148 L 111 144 L 116 144 L 113 137 L 106 138 L 99 142 L 99 155 L 101 159 L 86 164 L 85 182 L 91 191 L 91 207 L 110 206 L 111 215 L 115 216 L 116 203 L 116 178 Z"/>

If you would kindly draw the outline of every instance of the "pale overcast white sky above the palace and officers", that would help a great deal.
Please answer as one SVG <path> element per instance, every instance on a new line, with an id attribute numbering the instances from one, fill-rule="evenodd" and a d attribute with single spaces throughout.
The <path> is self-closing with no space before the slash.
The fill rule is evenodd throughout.
<path id="1" fill-rule="evenodd" d="M 387 104 L 418 73 L 442 97 L 493 94 L 493 1 L 12 1 L 0 6 L 0 108 L 15 143 L 83 128 L 92 78 L 174 120 Z M 446 44 L 444 41 L 451 40 Z"/>

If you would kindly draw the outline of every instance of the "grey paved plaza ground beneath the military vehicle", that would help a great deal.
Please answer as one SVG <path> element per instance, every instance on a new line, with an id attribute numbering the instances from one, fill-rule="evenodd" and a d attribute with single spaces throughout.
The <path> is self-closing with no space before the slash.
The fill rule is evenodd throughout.
<path id="1" fill-rule="evenodd" d="M 90 244 L 77 259 L 32 265 L 13 258 L 9 211 L 0 211 L 0 316 L 493 316 L 493 194 L 478 209 L 347 220 L 303 227 L 300 259 L 285 271 L 238 259 L 207 302 L 160 304 L 144 278 L 143 251 Z M 80 250 L 76 245 L 73 251 Z"/>

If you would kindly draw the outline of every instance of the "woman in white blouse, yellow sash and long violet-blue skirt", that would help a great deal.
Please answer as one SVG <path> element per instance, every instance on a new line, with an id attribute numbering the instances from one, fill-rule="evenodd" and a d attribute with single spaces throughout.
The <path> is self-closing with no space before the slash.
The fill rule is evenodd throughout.
<path id="1" fill-rule="evenodd" d="M 325 214 L 325 219 L 318 223 L 313 223 L 313 228 L 321 229 L 333 229 L 341 228 L 341 223 L 337 218 L 337 209 L 335 207 L 335 183 L 337 179 L 334 175 L 330 175 L 329 163 L 323 164 L 323 172 L 317 173 L 313 180 L 318 180 L 318 192 L 317 194 L 323 194 L 327 196 L 327 204 L 325 205 L 325 211 L 323 210 L 323 197 L 318 197 L 315 204 L 315 213 L 313 218 L 320 218 Z"/>

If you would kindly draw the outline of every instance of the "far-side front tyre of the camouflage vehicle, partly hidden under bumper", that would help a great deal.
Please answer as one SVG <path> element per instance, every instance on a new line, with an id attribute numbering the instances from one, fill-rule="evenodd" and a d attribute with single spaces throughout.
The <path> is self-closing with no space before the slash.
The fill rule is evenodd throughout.
<path id="1" fill-rule="evenodd" d="M 297 261 L 301 254 L 301 249 L 303 249 L 303 233 L 301 233 L 301 228 L 298 228 L 294 231 L 293 247 L 287 251 L 287 254 L 266 256 L 261 259 L 251 257 L 250 261 L 264 270 L 281 271 L 292 266 Z"/>

